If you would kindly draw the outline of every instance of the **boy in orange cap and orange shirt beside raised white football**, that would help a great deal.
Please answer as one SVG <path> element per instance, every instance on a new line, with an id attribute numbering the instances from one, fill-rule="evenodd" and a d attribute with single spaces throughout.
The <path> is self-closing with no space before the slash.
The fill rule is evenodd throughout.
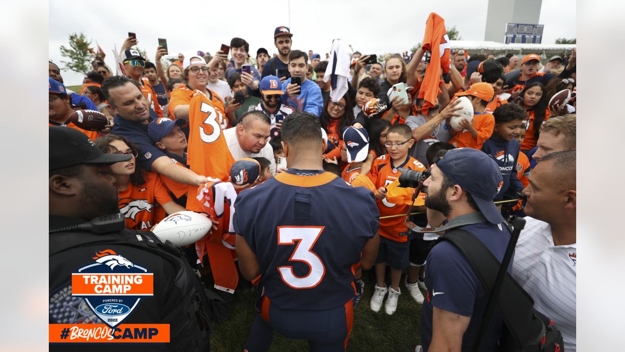
<path id="1" fill-rule="evenodd" d="M 463 128 L 462 132 L 457 132 L 453 128 L 447 128 L 453 135 L 449 143 L 456 148 L 474 148 L 482 149 L 482 145 L 488 138 L 491 138 L 492 131 L 495 128 L 495 118 L 491 113 L 486 112 L 486 106 L 492 101 L 495 91 L 492 86 L 486 82 L 474 83 L 467 90 L 456 93 L 456 96 L 466 96 L 471 100 L 473 105 L 473 123 L 466 118 L 460 123 Z"/>

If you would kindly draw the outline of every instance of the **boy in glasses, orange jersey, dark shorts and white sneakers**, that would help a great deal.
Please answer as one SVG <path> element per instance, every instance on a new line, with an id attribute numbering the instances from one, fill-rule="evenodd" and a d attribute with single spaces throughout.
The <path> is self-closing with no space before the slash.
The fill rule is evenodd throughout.
<path id="1" fill-rule="evenodd" d="M 492 87 L 491 87 L 492 89 Z M 371 170 L 367 174 L 377 188 L 377 209 L 380 217 L 406 214 L 409 205 L 392 204 L 386 200 L 386 186 L 399 178 L 399 168 L 423 171 L 424 165 L 408 154 L 414 144 L 412 130 L 404 124 L 392 125 L 386 134 L 384 146 L 388 154 L 374 160 Z M 384 296 L 388 292 L 388 299 L 384 305 L 386 314 L 393 314 L 397 310 L 397 298 L 401 294 L 399 281 L 401 272 L 409 265 L 408 228 L 404 224 L 404 217 L 397 216 L 380 219 L 380 247 L 376 259 L 376 287 L 371 298 L 372 311 L 378 312 L 382 306 Z M 391 287 L 384 283 L 386 264 L 391 267 Z"/>

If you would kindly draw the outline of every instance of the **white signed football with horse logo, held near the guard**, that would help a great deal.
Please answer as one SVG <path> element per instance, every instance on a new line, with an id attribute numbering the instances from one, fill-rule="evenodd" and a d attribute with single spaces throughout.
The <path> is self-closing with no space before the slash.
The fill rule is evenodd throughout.
<path id="1" fill-rule="evenodd" d="M 176 212 L 161 220 L 152 232 L 163 241 L 169 240 L 176 246 L 195 243 L 206 236 L 212 222 L 206 216 L 185 210 Z"/>

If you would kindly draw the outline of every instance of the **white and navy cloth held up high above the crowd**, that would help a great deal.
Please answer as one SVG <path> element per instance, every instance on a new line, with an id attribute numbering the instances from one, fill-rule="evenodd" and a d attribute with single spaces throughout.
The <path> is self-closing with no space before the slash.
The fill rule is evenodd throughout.
<path id="1" fill-rule="evenodd" d="M 347 85 L 349 85 L 349 65 L 351 65 L 352 49 L 342 41 L 342 39 L 334 39 L 332 41 L 332 49 L 330 58 L 327 62 L 326 74 L 323 81 L 331 80 L 330 98 L 335 103 L 347 93 Z"/>

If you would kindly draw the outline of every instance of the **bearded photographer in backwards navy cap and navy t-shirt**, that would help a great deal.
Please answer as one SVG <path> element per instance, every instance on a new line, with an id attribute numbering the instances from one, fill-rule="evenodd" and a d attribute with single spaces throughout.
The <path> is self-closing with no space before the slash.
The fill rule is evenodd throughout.
<path id="1" fill-rule="evenodd" d="M 467 217 L 473 218 L 456 229 L 470 232 L 497 260 L 503 259 L 510 234 L 492 201 L 502 185 L 501 172 L 492 158 L 473 148 L 449 150 L 432 165 L 432 174 L 423 185 L 427 187 L 427 209 L 441 212 L 451 226 L 462 219 L 468 220 Z M 425 271 L 427 294 L 421 313 L 423 350 L 468 351 L 484 316 L 488 290 L 468 259 L 447 241 L 432 248 Z M 501 316 L 494 311 L 480 350 L 496 351 L 501 330 Z"/>

